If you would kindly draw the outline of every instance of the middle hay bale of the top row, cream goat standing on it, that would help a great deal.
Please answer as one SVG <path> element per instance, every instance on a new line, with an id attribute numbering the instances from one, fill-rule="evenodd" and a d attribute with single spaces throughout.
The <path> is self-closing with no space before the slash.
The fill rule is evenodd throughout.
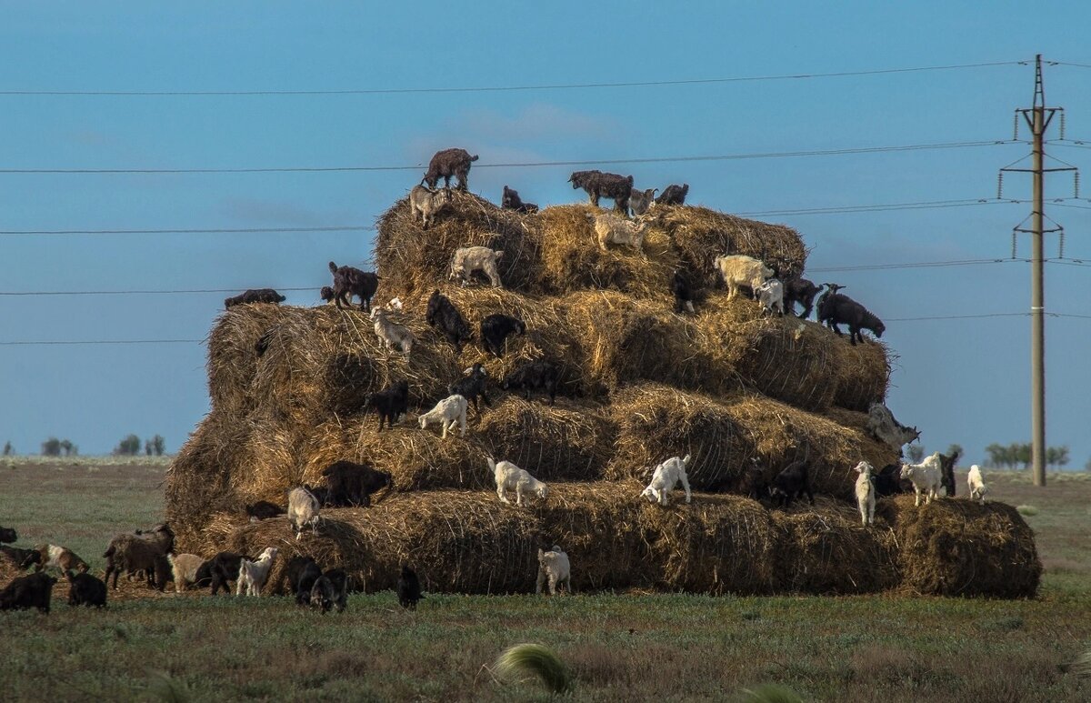
<path id="1" fill-rule="evenodd" d="M 666 233 L 648 228 L 644 239 L 647 258 L 619 245 L 607 245 L 603 251 L 595 234 L 595 217 L 603 212 L 584 203 L 547 207 L 536 216 L 541 237 L 539 289 L 553 294 L 590 289 L 616 290 L 639 298 L 669 297 L 679 255 Z"/>

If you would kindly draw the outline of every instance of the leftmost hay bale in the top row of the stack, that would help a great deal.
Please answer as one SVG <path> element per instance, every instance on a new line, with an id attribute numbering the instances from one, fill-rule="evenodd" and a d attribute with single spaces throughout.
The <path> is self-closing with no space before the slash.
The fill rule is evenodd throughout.
<path id="1" fill-rule="evenodd" d="M 502 250 L 496 270 L 504 288 L 530 290 L 541 270 L 535 215 L 501 210 L 465 191 L 453 190 L 452 198 L 427 230 L 412 218 L 408 198 L 379 218 L 375 266 L 384 295 L 431 293 L 448 279 L 451 259 L 461 247 Z"/>

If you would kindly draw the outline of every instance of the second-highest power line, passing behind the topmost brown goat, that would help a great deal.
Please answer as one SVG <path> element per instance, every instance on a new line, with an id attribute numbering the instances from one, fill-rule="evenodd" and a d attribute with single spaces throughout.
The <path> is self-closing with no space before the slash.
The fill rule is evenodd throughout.
<path id="1" fill-rule="evenodd" d="M 976 142 L 940 142 L 935 144 L 902 144 L 896 146 L 859 146 L 848 148 L 804 150 L 795 152 L 756 152 L 751 154 L 719 154 L 697 156 L 649 156 L 637 158 L 606 158 L 556 162 L 508 162 L 476 164 L 473 168 L 541 168 L 552 166 L 609 166 L 621 164 L 666 164 L 681 162 L 726 162 L 757 158 L 796 158 L 803 156 L 844 156 L 850 154 L 880 154 L 947 148 L 968 148 L 1021 143 L 1016 140 Z M 413 166 L 271 166 L 238 168 L 0 168 L 0 174 L 11 175 L 115 175 L 115 174 L 324 174 L 420 170 Z"/>

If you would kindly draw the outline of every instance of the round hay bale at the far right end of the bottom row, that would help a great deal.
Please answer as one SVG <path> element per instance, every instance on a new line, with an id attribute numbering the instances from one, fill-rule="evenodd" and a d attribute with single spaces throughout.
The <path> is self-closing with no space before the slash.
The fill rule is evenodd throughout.
<path id="1" fill-rule="evenodd" d="M 904 591 L 936 596 L 1032 598 L 1042 562 L 1034 533 L 1005 503 L 912 496 L 880 501 L 876 515 L 894 525 Z"/>

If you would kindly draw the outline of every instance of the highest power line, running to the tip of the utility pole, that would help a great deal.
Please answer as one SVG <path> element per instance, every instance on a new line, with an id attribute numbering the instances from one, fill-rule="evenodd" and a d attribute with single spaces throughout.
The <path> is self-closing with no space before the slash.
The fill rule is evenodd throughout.
<path id="1" fill-rule="evenodd" d="M 955 63 L 949 65 L 923 65 L 902 69 L 872 69 L 863 71 L 837 71 L 830 73 L 788 73 L 780 75 L 748 75 L 716 79 L 679 79 L 673 81 L 626 81 L 619 83 L 546 83 L 538 85 L 503 86 L 456 86 L 418 88 L 351 88 L 331 91 L 0 91 L 0 95 L 40 96 L 111 96 L 111 97 L 167 97 L 167 96 L 272 96 L 272 95 L 401 95 L 415 93 L 507 93 L 517 91 L 564 91 L 577 88 L 607 87 L 651 87 L 664 85 L 709 85 L 717 83 L 743 83 L 757 81 L 794 81 L 810 79 L 851 78 L 860 75 L 884 75 L 891 73 L 920 73 L 925 71 L 952 71 L 999 65 L 1022 65 L 1026 61 L 990 61 L 981 63 Z"/>

